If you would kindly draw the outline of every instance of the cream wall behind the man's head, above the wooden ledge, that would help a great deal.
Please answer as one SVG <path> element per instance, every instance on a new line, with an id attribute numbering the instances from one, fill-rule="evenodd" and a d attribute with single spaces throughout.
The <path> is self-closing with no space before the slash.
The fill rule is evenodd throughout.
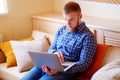
<path id="1" fill-rule="evenodd" d="M 80 0 L 54 0 L 54 10 L 61 12 L 64 4 L 69 1 L 78 2 L 83 15 L 120 20 L 120 5 Z"/>

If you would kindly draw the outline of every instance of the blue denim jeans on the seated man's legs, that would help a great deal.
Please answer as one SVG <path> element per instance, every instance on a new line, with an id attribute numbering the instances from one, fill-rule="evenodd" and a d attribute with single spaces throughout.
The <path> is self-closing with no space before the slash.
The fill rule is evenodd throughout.
<path id="1" fill-rule="evenodd" d="M 55 75 L 48 75 L 41 68 L 33 67 L 20 80 L 75 80 L 75 76 L 59 72 Z"/>

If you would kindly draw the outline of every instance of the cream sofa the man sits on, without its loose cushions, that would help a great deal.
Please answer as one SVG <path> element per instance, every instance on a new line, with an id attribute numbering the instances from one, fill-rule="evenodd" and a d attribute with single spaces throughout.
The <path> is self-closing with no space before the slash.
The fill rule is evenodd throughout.
<path id="1" fill-rule="evenodd" d="M 51 41 L 54 38 L 53 35 L 50 35 L 50 34 L 47 34 L 47 33 L 41 32 L 41 34 L 47 36 L 48 43 L 51 43 Z M 105 57 L 103 59 L 103 64 L 102 65 L 104 66 L 104 65 L 110 63 L 111 61 L 113 61 L 115 59 L 119 59 L 119 58 L 120 58 L 120 48 L 109 47 L 109 49 L 107 50 L 107 52 L 105 54 Z M 25 75 L 27 72 L 28 71 L 20 73 L 18 71 L 17 66 L 6 68 L 5 55 L 3 53 L 0 53 L 0 78 L 1 78 L 0 80 L 20 80 L 20 78 L 23 75 Z M 99 79 L 96 78 L 97 74 L 98 73 L 95 73 L 93 75 L 95 78 L 93 77 L 92 80 L 99 80 Z M 98 75 L 100 75 L 100 74 L 98 74 Z M 102 80 L 108 80 L 108 79 L 102 79 Z M 113 80 L 113 79 L 109 79 L 109 80 Z"/>

